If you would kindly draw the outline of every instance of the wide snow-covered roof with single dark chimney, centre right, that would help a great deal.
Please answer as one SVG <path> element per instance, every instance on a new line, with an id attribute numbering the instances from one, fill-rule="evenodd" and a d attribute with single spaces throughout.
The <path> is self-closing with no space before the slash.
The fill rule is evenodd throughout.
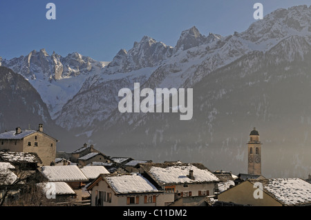
<path id="1" fill-rule="evenodd" d="M 196 166 L 195 166 L 196 165 Z M 142 168 L 149 176 L 160 184 L 171 183 L 204 183 L 219 181 L 219 179 L 200 163 L 149 163 Z M 194 179 L 189 178 L 189 171 L 193 171 Z"/>

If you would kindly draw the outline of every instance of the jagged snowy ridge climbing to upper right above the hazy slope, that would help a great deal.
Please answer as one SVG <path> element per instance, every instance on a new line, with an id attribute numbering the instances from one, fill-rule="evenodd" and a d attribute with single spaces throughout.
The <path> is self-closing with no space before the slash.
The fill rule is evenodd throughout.
<path id="1" fill-rule="evenodd" d="M 182 32 L 174 48 L 143 37 L 129 52 L 120 50 L 101 74 L 86 79 L 82 89 L 64 106 L 57 124 L 68 130 L 83 128 L 91 134 L 95 121 L 102 121 L 106 129 L 116 121 L 133 121 L 133 115 L 116 111 L 120 88 L 133 88 L 134 82 L 140 82 L 142 88 L 191 88 L 210 72 L 250 52 L 266 52 L 288 37 L 301 37 L 310 43 L 310 17 L 306 6 L 276 10 L 245 32 L 227 37 L 211 33 L 206 37 L 192 27 Z M 293 23 L 298 25 L 293 28 Z"/>

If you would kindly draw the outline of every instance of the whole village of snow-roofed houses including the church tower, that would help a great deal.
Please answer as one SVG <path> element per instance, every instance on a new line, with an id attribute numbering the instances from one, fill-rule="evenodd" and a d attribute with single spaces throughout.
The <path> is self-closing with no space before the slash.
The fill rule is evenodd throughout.
<path id="1" fill-rule="evenodd" d="M 59 152 L 56 145 L 43 124 L 0 134 L 0 206 L 311 205 L 310 176 L 266 179 L 261 174 L 256 128 L 247 143 L 248 172 L 237 175 L 195 162 L 109 157 L 86 143 L 73 152 Z M 260 199 L 254 197 L 258 183 Z"/>

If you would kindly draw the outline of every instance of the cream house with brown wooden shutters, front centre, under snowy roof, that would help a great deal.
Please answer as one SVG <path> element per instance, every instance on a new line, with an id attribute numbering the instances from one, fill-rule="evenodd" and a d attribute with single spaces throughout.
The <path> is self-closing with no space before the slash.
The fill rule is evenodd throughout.
<path id="1" fill-rule="evenodd" d="M 164 206 L 164 192 L 141 174 L 101 174 L 87 187 L 91 206 Z"/>

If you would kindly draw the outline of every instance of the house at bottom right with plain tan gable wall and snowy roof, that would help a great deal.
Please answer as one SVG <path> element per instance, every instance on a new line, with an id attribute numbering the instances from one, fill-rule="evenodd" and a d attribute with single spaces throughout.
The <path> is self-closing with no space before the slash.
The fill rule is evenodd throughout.
<path id="1" fill-rule="evenodd" d="M 311 184 L 299 178 L 247 179 L 218 201 L 250 206 L 311 206 Z"/>

